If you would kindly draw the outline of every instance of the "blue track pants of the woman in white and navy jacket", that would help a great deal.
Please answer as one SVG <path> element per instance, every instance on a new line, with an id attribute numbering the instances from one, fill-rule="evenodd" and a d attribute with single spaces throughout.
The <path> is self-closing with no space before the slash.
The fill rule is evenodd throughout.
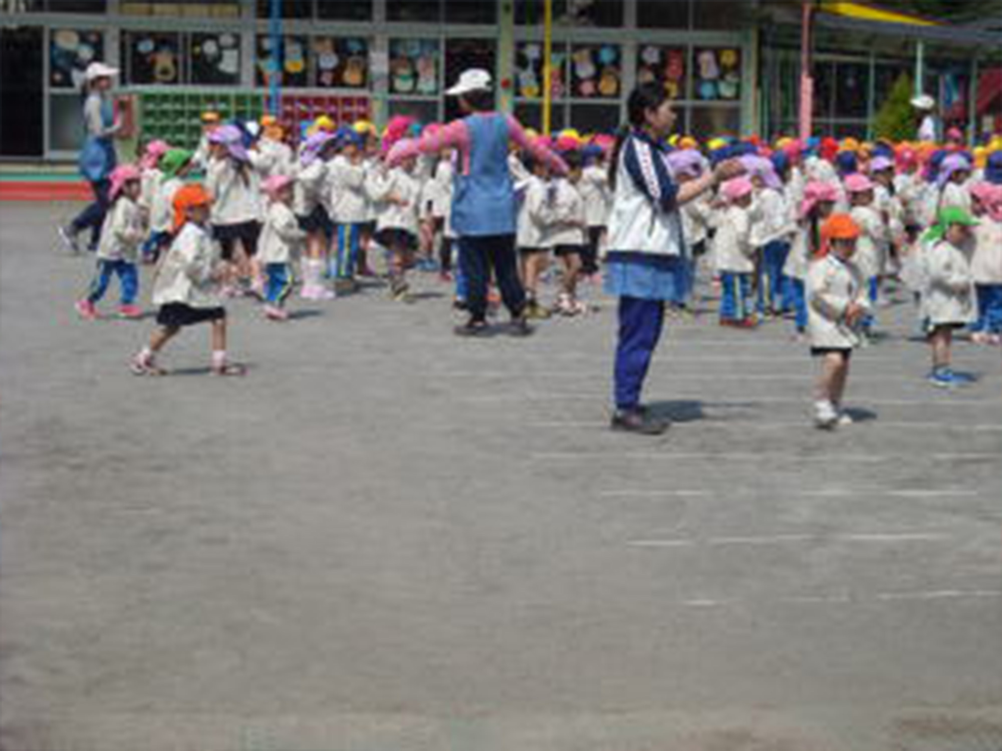
<path id="1" fill-rule="evenodd" d="M 635 410 L 640 405 L 640 392 L 663 327 L 662 300 L 619 298 L 619 340 L 613 373 L 617 410 Z"/>

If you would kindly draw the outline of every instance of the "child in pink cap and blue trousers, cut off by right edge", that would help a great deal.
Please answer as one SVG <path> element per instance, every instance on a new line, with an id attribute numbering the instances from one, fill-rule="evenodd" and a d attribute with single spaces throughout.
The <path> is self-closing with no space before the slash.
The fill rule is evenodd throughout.
<path id="1" fill-rule="evenodd" d="M 1002 185 L 979 182 L 971 188 L 974 213 L 981 223 L 974 230 L 971 275 L 978 294 L 978 320 L 971 340 L 1002 343 Z"/>

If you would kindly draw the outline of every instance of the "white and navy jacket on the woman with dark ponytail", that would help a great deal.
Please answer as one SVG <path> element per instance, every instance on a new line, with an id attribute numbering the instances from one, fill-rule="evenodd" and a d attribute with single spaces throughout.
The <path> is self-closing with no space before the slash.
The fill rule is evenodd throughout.
<path id="1" fill-rule="evenodd" d="M 686 254 L 681 215 L 665 151 L 647 134 L 632 131 L 615 165 L 609 212 L 609 252 Z"/>

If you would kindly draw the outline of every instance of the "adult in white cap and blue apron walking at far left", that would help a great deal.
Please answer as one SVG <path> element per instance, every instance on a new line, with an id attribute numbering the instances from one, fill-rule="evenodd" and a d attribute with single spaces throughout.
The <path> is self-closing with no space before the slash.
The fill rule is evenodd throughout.
<path id="1" fill-rule="evenodd" d="M 79 252 L 79 234 L 90 229 L 88 249 L 97 248 L 101 224 L 107 213 L 111 187 L 110 175 L 115 168 L 114 138 L 122 123 L 115 117 L 111 88 L 118 69 L 102 62 L 92 62 L 84 73 L 83 125 L 85 139 L 80 150 L 80 174 L 90 183 L 93 202 L 81 211 L 69 226 L 60 227 L 59 234 L 67 247 Z"/>

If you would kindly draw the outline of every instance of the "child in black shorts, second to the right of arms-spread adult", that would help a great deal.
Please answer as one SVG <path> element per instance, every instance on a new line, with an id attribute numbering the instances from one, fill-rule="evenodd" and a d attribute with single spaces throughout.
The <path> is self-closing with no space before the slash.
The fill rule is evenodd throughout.
<path id="1" fill-rule="evenodd" d="M 577 299 L 581 248 L 585 243 L 587 219 L 584 213 L 584 200 L 577 189 L 581 181 L 581 154 L 569 151 L 563 154 L 563 158 L 567 164 L 567 175 L 554 178 L 547 196 L 551 214 L 549 242 L 553 246 L 553 254 L 564 264 L 563 289 L 557 297 L 554 311 L 561 315 L 574 316 L 580 315 L 587 309 Z"/>

